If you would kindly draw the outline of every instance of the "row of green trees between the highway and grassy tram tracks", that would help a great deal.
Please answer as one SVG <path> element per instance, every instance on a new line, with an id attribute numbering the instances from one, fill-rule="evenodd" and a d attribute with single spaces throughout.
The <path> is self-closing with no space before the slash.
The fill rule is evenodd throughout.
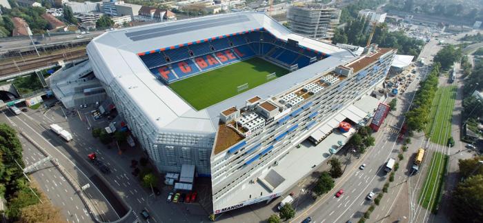
<path id="1" fill-rule="evenodd" d="M 431 104 L 436 95 L 438 76 L 440 74 L 440 64 L 435 63 L 433 69 L 424 81 L 420 82 L 420 88 L 416 91 L 413 104 L 406 114 L 406 124 L 408 130 L 420 132 L 428 123 L 428 116 Z"/>

